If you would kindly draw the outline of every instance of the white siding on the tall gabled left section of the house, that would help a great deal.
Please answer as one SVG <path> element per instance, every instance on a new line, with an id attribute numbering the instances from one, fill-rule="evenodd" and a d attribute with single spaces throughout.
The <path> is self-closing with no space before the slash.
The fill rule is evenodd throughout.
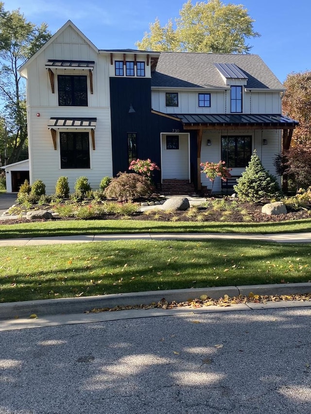
<path id="1" fill-rule="evenodd" d="M 49 59 L 94 61 L 93 94 L 90 92 L 88 69 L 79 68 L 53 68 L 55 86 L 52 93 L 48 70 L 45 67 Z M 86 176 L 94 189 L 99 187 L 104 176 L 112 177 L 109 64 L 107 55 L 99 54 L 79 33 L 68 26 L 26 67 L 30 180 L 31 183 L 38 179 L 42 180 L 46 184 L 47 194 L 55 192 L 55 184 L 60 176 L 69 178 L 71 192 L 74 191 L 74 183 L 80 176 Z M 58 105 L 58 74 L 86 75 L 87 107 Z M 89 132 L 90 168 L 62 169 L 60 167 L 59 132 L 75 130 L 57 129 L 55 150 L 51 131 L 48 129 L 51 117 L 97 118 L 95 150 L 92 149 L 90 129 L 79 129 L 81 132 Z"/>

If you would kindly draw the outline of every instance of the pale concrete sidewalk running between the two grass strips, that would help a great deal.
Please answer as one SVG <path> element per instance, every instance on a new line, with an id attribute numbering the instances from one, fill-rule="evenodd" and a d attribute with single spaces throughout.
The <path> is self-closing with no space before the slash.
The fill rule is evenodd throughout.
<path id="1" fill-rule="evenodd" d="M 243 234 L 243 233 L 135 233 L 135 234 L 80 234 L 75 236 L 25 237 L 2 239 L 3 246 L 40 246 L 68 243 L 90 243 L 112 240 L 258 240 L 275 243 L 311 243 L 311 232 Z"/>

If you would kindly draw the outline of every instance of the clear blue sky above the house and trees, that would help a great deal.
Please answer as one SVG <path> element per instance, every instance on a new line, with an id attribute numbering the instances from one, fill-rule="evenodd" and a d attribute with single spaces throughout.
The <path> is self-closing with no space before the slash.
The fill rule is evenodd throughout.
<path id="1" fill-rule="evenodd" d="M 71 20 L 99 49 L 135 48 L 149 23 L 178 17 L 185 0 L 4 0 L 5 10 L 19 8 L 25 17 L 45 21 L 55 33 Z M 193 0 L 192 3 L 195 3 Z M 249 39 L 251 53 L 259 54 L 284 82 L 291 72 L 311 70 L 310 0 L 223 0 L 243 4 L 255 19 L 261 37 Z"/>

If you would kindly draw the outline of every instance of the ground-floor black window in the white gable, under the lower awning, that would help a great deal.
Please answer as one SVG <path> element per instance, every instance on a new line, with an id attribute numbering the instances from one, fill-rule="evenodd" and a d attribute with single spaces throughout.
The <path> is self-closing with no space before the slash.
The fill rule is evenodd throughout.
<path id="1" fill-rule="evenodd" d="M 60 167 L 90 168 L 88 132 L 60 132 Z"/>

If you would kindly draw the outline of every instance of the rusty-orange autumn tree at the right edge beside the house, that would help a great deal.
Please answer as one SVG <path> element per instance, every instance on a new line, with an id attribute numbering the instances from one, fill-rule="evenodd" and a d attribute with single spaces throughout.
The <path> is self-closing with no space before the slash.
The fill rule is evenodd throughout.
<path id="1" fill-rule="evenodd" d="M 283 114 L 294 118 L 299 126 L 294 129 L 292 145 L 311 148 L 311 71 L 290 73 L 284 85 Z"/>

